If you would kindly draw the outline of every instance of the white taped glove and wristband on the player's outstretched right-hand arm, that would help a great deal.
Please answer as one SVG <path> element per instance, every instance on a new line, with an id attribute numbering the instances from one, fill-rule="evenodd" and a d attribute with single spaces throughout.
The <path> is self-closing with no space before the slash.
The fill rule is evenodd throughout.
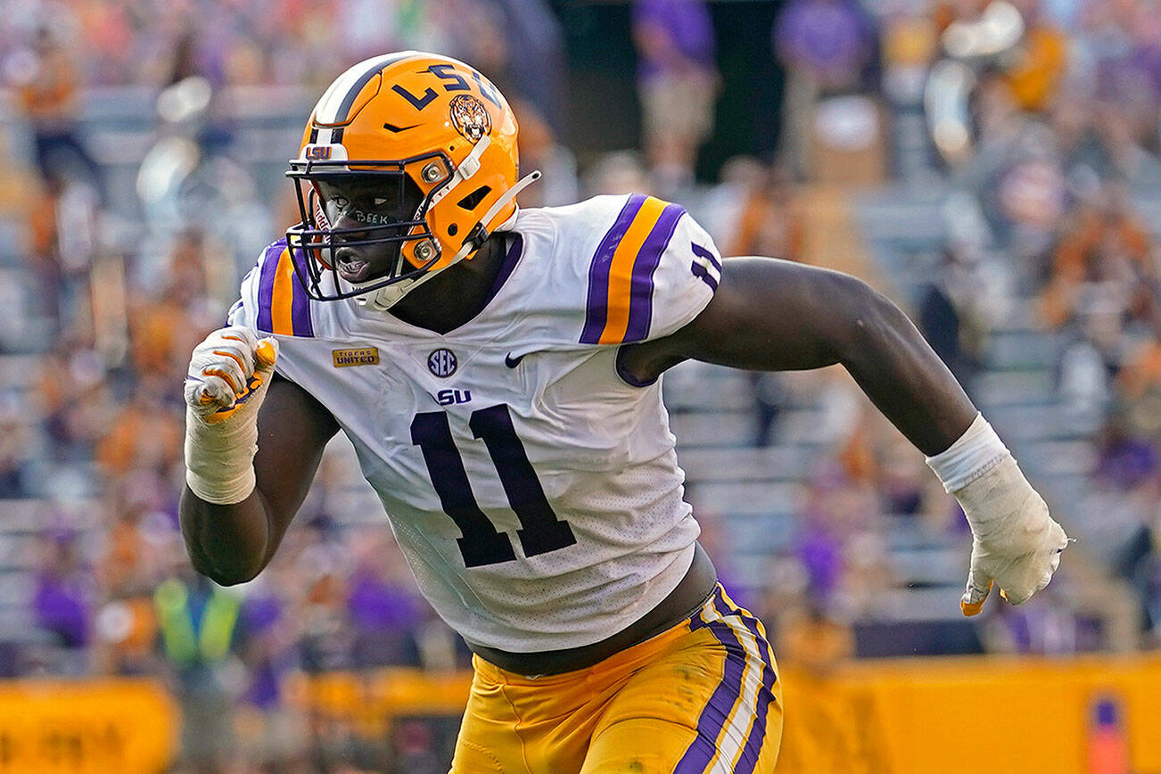
<path id="1" fill-rule="evenodd" d="M 959 500 L 972 528 L 972 564 L 960 600 L 964 615 L 983 608 L 993 585 L 1012 605 L 1047 586 L 1068 535 L 983 417 L 928 464 Z"/>

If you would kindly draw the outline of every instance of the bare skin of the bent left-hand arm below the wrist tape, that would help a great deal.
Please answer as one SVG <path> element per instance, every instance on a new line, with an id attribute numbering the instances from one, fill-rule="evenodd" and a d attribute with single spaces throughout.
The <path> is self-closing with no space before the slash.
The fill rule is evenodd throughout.
<path id="1" fill-rule="evenodd" d="M 214 505 L 186 486 L 179 513 L 197 572 L 223 586 L 245 583 L 269 564 L 307 497 L 323 448 L 338 422 L 293 382 L 275 377 L 258 413 L 254 491 L 241 502 Z"/>

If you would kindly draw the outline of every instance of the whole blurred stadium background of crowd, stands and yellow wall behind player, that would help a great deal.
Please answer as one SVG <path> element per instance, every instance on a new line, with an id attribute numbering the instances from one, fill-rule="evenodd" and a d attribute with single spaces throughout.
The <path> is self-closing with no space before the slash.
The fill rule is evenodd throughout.
<path id="1" fill-rule="evenodd" d="M 0 20 L 0 772 L 447 771 L 469 653 L 345 440 L 253 583 L 199 578 L 176 523 L 189 352 L 295 219 L 317 96 L 398 49 L 505 92 L 545 172 L 522 205 L 652 193 L 724 255 L 888 294 L 1077 538 L 964 619 L 962 515 L 843 371 L 666 375 L 702 542 L 784 668 L 780 772 L 1161 772 L 1154 0 Z"/>

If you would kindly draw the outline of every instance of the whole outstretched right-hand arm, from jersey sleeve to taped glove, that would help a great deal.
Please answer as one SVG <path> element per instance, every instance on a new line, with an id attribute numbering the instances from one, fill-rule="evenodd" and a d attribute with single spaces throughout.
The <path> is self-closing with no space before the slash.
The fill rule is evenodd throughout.
<path id="1" fill-rule="evenodd" d="M 647 382 L 690 359 L 751 370 L 842 364 L 964 506 L 975 538 L 965 613 L 979 612 L 993 580 L 1022 602 L 1052 578 L 1063 530 L 907 316 L 863 281 L 767 258 L 727 260 L 691 323 L 623 347 L 619 367 Z"/>

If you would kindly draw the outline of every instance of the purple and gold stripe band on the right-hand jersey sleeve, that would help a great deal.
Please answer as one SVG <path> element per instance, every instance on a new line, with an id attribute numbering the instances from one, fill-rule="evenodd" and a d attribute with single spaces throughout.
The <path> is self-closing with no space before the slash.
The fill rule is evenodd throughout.
<path id="1" fill-rule="evenodd" d="M 627 343 L 649 335 L 654 273 L 685 210 L 634 194 L 605 233 L 589 268 L 582 343 Z"/>

